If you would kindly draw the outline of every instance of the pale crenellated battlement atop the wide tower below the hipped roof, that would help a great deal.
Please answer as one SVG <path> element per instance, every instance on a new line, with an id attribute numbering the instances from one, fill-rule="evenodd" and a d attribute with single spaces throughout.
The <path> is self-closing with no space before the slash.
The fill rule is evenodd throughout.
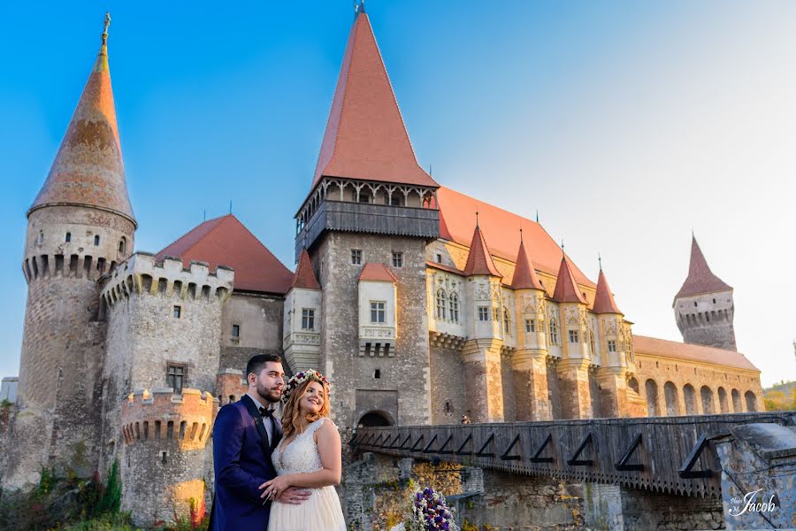
<path id="1" fill-rule="evenodd" d="M 112 306 L 133 294 L 173 296 L 180 299 L 218 301 L 224 303 L 233 290 L 234 271 L 218 266 L 210 273 L 207 262 L 191 260 L 188 266 L 180 258 L 136 252 L 111 273 L 101 296 Z"/>

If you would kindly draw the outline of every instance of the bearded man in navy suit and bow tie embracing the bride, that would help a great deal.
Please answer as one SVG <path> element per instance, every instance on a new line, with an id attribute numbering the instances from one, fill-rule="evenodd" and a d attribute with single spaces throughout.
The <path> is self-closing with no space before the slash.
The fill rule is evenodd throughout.
<path id="1" fill-rule="evenodd" d="M 277 473 L 272 451 L 282 437 L 273 406 L 285 385 L 282 358 L 257 354 L 246 366 L 249 392 L 218 411 L 213 426 L 213 465 L 216 471 L 210 529 L 227 531 L 268 527 L 271 502 L 263 503 L 259 486 Z M 277 498 L 283 504 L 301 504 L 310 492 L 286 489 Z"/>

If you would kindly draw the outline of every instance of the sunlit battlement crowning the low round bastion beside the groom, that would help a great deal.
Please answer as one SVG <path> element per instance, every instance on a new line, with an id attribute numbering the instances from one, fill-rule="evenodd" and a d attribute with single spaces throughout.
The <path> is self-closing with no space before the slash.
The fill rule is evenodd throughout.
<path id="1" fill-rule="evenodd" d="M 218 398 L 199 389 L 143 389 L 122 404 L 121 428 L 126 444 L 150 441 L 178 443 L 180 450 L 203 448 L 218 412 Z"/>

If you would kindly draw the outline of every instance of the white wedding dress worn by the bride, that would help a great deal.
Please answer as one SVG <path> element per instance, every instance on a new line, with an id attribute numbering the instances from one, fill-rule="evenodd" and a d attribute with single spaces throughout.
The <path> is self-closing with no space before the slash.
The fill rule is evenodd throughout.
<path id="1" fill-rule="evenodd" d="M 312 422 L 284 450 L 282 443 L 285 439 L 279 441 L 271 455 L 273 466 L 279 475 L 317 472 L 323 468 L 312 434 L 324 422 L 332 420 L 322 418 Z M 346 531 L 340 498 L 334 487 L 329 485 L 306 490 L 311 494 L 302 504 L 280 504 L 277 501 L 271 504 L 268 531 Z"/>

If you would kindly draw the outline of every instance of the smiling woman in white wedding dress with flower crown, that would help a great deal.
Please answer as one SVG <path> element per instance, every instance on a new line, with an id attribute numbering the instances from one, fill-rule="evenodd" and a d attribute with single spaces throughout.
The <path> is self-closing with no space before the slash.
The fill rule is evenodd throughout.
<path id="1" fill-rule="evenodd" d="M 279 474 L 260 485 L 263 496 L 274 500 L 268 531 L 345 531 L 340 498 L 341 442 L 329 419 L 329 382 L 312 369 L 295 374 L 282 396 L 282 439 L 272 453 Z M 280 504 L 288 487 L 309 489 L 302 504 Z"/>

